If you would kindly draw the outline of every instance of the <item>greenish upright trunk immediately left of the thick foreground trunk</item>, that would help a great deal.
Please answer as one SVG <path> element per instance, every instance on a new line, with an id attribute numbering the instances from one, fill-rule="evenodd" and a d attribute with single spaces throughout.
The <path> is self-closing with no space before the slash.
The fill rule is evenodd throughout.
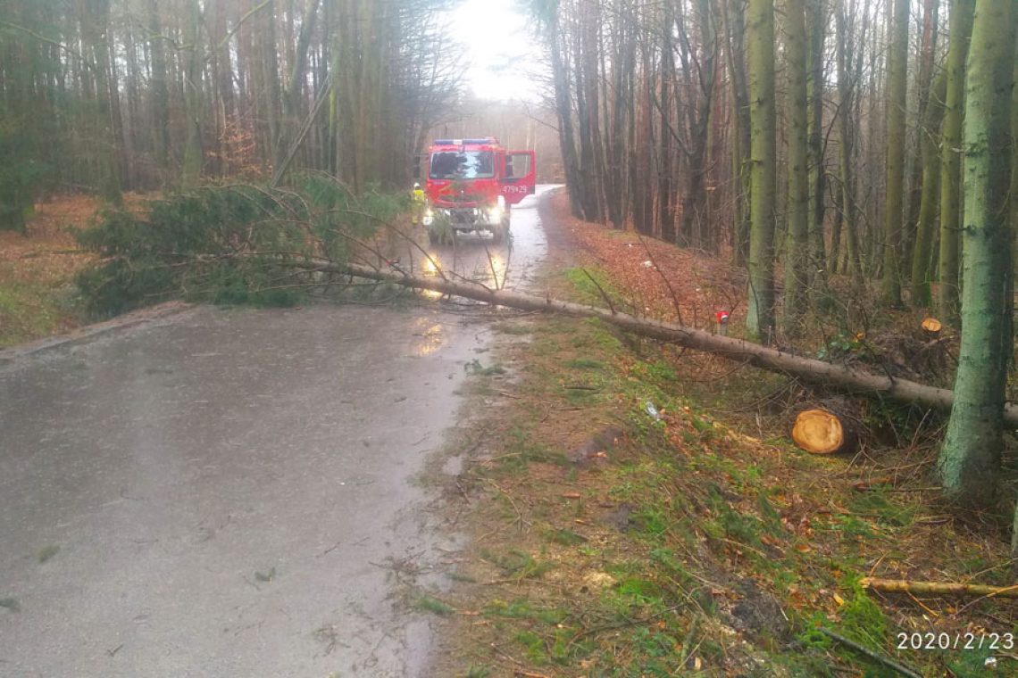
<path id="1" fill-rule="evenodd" d="M 965 107 L 965 60 L 972 35 L 975 0 L 951 4 L 948 39 L 948 89 L 941 148 L 941 253 L 937 312 L 941 320 L 958 321 L 958 245 L 961 241 L 961 135 Z"/>

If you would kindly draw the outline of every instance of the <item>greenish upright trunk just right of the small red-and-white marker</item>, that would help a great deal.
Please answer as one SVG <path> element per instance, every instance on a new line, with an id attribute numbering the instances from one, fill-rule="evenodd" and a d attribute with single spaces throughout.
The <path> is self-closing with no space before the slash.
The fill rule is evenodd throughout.
<path id="1" fill-rule="evenodd" d="M 774 334 L 774 225 L 777 189 L 774 81 L 774 0 L 749 0 L 749 120 L 752 229 L 746 330 L 761 344 Z"/>

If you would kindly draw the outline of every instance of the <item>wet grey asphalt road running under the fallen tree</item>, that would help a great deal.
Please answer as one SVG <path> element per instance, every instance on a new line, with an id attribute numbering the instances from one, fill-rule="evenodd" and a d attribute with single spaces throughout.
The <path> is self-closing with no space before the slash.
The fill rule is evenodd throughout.
<path id="1" fill-rule="evenodd" d="M 430 253 L 525 286 L 535 205 L 491 260 Z M 414 478 L 480 329 L 436 304 L 196 308 L 0 367 L 0 676 L 427 675 L 394 569 L 457 547 Z"/>

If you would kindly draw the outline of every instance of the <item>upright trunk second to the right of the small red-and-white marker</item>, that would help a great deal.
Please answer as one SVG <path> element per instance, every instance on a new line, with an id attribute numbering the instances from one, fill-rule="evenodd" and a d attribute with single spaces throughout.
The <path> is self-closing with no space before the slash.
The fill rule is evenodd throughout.
<path id="1" fill-rule="evenodd" d="M 802 315 L 809 254 L 809 95 L 806 68 L 806 13 L 804 0 L 785 3 L 788 74 L 788 231 L 785 246 L 785 306 L 783 325 L 794 333 Z"/>

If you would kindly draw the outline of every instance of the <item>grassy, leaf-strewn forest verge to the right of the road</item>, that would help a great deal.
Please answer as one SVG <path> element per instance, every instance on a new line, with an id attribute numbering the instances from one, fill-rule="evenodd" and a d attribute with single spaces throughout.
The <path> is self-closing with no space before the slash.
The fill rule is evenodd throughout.
<path id="1" fill-rule="evenodd" d="M 738 324 L 743 283 L 726 263 L 572 220 L 564 193 L 543 221 L 552 296 L 678 307 L 701 326 L 734 307 Z M 1005 517 L 938 501 L 937 416 L 872 405 L 858 453 L 809 455 L 788 436 L 809 395 L 788 378 L 597 320 L 495 330 L 493 359 L 525 367 L 471 377 L 501 406 L 435 460 L 461 467 L 433 477 L 472 537 L 448 561 L 456 584 L 417 599 L 445 626 L 435 675 L 897 675 L 821 626 L 915 675 L 1018 675 L 1014 604 L 858 583 L 1014 582 Z"/>

